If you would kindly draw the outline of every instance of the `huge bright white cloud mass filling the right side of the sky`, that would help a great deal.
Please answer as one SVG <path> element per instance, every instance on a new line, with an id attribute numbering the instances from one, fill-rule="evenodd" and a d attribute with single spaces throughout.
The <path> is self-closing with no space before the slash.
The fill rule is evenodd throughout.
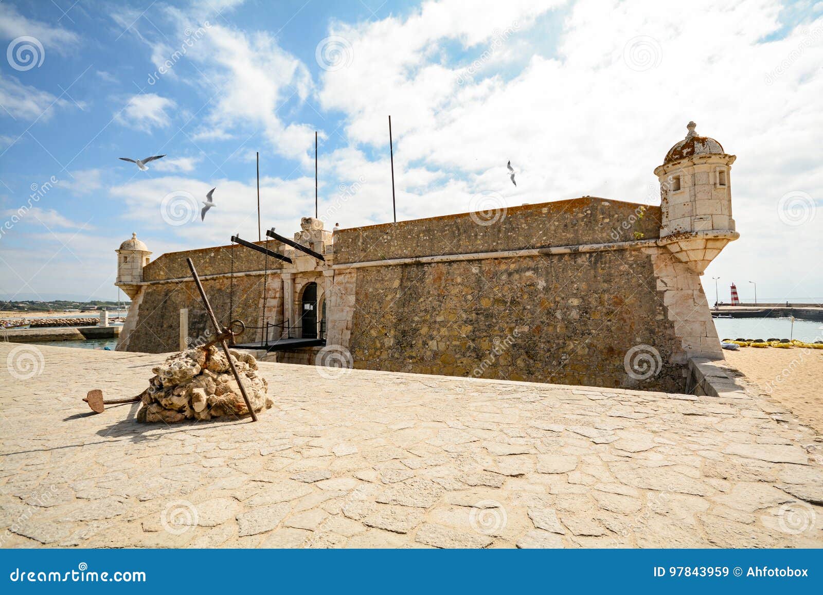
<path id="1" fill-rule="evenodd" d="M 742 239 L 706 278 L 714 267 L 728 267 L 724 275 L 751 270 L 765 277 L 764 263 L 786 254 L 796 239 L 802 250 L 820 251 L 819 225 L 788 229 L 776 205 L 791 190 L 818 202 L 823 196 L 823 168 L 809 160 L 823 129 L 823 17 L 786 27 L 779 3 L 768 0 L 723 6 L 707 0 L 665 11 L 656 2 L 583 0 L 565 16 L 555 53 L 534 42 L 549 28 L 528 9 L 472 2 L 472 16 L 455 22 L 461 7 L 428 2 L 405 19 L 335 23 L 329 31 L 345 37 L 353 55 L 349 66 L 323 72 L 319 98 L 323 109 L 345 114 L 351 145 L 366 147 L 348 160 L 381 155 L 376 170 L 350 163 L 380 176 L 378 204 L 390 192 L 383 173 L 386 114 L 393 116 L 404 218 L 466 211 L 472 193 L 486 190 L 501 193 L 509 206 L 586 194 L 652 202 L 654 167 L 694 119 L 698 132 L 738 156 L 732 202 Z M 481 70 L 458 83 L 466 64 L 488 47 L 491 29 L 509 21 L 518 21 L 518 32 L 504 51 L 509 63 L 524 66 Z M 772 40 L 779 31 L 785 36 Z M 446 40 L 462 42 L 466 55 L 444 57 Z M 507 160 L 518 169 L 516 188 L 505 173 Z M 365 186 L 373 183 L 369 178 Z M 769 273 L 772 293 L 788 286 L 778 279 L 807 274 L 794 256 L 791 263 L 781 257 Z M 804 282 L 823 293 L 820 279 Z"/>

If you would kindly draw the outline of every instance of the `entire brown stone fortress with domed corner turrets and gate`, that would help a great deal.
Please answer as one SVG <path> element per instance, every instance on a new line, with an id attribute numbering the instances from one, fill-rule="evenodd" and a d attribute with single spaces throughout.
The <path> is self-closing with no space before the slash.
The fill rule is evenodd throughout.
<path id="1" fill-rule="evenodd" d="M 700 275 L 738 237 L 734 160 L 689 123 L 654 170 L 659 207 L 584 197 L 333 232 L 304 218 L 294 239 L 324 259 L 272 239 L 255 244 L 291 263 L 235 244 L 151 262 L 134 236 L 117 348 L 207 341 L 192 258 L 217 318 L 249 327 L 239 343 L 316 339 L 267 360 L 686 392 L 690 358 L 723 359 Z"/>

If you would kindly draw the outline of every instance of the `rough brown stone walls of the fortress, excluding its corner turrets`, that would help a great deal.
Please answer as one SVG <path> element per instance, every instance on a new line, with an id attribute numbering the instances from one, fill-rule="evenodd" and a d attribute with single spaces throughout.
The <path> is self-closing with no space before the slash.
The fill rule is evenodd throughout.
<path id="1" fill-rule="evenodd" d="M 269 258 L 267 319 L 283 320 L 288 272 L 293 314 L 300 315 L 301 288 L 316 281 L 328 300 L 327 345 L 348 350 L 356 368 L 682 392 L 688 357 L 722 352 L 700 277 L 656 244 L 659 225 L 659 207 L 578 198 L 515 207 L 488 225 L 463 214 L 337 230 L 328 263 L 295 255 L 282 267 Z M 482 254 L 547 246 L 571 249 Z M 189 336 L 202 337 L 208 324 L 193 282 L 163 281 L 189 277 L 187 257 L 202 277 L 224 275 L 203 284 L 228 323 L 232 252 L 235 275 L 249 272 L 233 277 L 233 318 L 261 326 L 262 254 L 226 246 L 170 253 L 144 269 L 149 282 L 130 313 L 136 328 L 119 348 L 176 351 L 181 308 L 189 309 Z M 450 254 L 473 259 L 448 260 Z M 379 262 L 435 255 L 445 262 Z M 260 332 L 241 341 L 256 341 Z M 639 346 L 660 358 L 658 374 L 647 379 L 625 367 L 626 354 Z M 303 349 L 274 357 L 314 364 L 319 355 Z"/>

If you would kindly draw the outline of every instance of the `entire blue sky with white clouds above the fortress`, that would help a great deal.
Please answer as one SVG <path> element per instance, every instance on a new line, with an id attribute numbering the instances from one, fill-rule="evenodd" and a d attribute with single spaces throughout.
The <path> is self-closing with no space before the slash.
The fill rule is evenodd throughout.
<path id="1" fill-rule="evenodd" d="M 255 151 L 264 228 L 291 235 L 314 212 L 315 130 L 328 228 L 391 221 L 391 114 L 400 219 L 489 196 L 658 204 L 653 169 L 694 119 L 738 157 L 742 238 L 709 297 L 719 276 L 823 300 L 821 4 L 659 6 L 6 0 L 0 298 L 114 299 L 132 232 L 155 256 L 256 239 Z"/>

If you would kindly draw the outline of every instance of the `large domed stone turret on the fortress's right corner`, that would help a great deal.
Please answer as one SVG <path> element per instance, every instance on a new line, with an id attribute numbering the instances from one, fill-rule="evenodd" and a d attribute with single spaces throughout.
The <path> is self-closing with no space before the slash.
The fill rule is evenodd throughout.
<path id="1" fill-rule="evenodd" d="M 723 247 L 740 237 L 732 219 L 732 163 L 714 138 L 701 137 L 690 122 L 686 138 L 654 170 L 660 180 L 663 228 L 660 244 L 694 272 L 703 274 Z"/>

